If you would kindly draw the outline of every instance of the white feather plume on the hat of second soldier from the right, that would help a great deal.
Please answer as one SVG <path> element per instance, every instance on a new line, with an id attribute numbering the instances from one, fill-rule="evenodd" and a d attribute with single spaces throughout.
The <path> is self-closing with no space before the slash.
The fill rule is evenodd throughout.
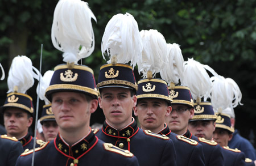
<path id="1" fill-rule="evenodd" d="M 193 99 L 204 97 L 204 101 L 207 101 L 212 90 L 212 81 L 205 69 L 207 65 L 203 65 L 193 58 L 188 58 L 188 61 L 185 61 L 184 64 L 184 85 L 191 89 Z M 209 69 L 209 66 L 207 69 Z"/>

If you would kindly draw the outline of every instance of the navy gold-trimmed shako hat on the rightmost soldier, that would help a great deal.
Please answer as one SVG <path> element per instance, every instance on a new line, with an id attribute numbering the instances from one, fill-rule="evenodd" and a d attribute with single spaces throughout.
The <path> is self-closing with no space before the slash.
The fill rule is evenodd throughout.
<path id="1" fill-rule="evenodd" d="M 230 116 L 224 113 L 216 113 L 216 127 L 226 129 L 231 133 L 234 133 L 234 128 L 231 126 Z"/>

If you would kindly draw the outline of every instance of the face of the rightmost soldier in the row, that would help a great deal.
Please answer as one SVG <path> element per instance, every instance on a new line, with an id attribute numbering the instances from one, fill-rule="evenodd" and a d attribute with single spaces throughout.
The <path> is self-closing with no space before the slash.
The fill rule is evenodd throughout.
<path id="1" fill-rule="evenodd" d="M 228 146 L 232 137 L 233 134 L 229 134 L 225 129 L 216 128 L 213 132 L 213 140 L 220 144 L 220 146 Z"/>

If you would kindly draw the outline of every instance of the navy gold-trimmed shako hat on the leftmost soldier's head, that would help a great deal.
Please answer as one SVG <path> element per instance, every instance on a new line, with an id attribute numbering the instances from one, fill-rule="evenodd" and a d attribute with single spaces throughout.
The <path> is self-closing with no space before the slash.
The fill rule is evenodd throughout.
<path id="1" fill-rule="evenodd" d="M 18 92 L 11 92 L 7 94 L 5 104 L 1 107 L 1 111 L 6 108 L 15 107 L 25 110 L 34 117 L 34 105 L 32 97 Z"/>

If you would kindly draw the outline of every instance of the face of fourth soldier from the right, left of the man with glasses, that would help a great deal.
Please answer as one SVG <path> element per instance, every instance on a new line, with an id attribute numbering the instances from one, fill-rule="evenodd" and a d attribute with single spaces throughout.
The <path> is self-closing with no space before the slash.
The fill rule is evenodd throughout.
<path id="1" fill-rule="evenodd" d="M 134 114 L 138 116 L 143 130 L 158 133 L 164 128 L 164 118 L 171 113 L 171 106 L 161 99 L 142 99 L 134 107 Z"/>

